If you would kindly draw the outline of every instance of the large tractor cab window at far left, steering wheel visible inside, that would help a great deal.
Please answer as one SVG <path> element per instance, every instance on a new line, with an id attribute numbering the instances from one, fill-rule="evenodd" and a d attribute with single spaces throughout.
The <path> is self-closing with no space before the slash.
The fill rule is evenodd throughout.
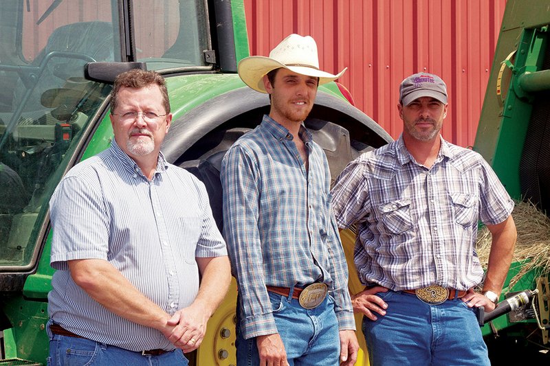
<path id="1" fill-rule="evenodd" d="M 50 196 L 111 90 L 84 66 L 120 59 L 117 3 L 2 1 L 0 271 L 32 265 Z"/>

